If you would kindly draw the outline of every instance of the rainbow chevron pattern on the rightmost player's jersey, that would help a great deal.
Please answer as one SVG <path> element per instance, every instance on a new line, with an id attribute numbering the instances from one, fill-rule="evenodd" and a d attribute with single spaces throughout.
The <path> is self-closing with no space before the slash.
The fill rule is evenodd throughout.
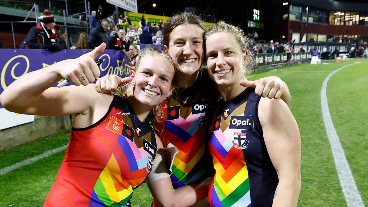
<path id="1" fill-rule="evenodd" d="M 244 112 L 243 107 L 239 108 Z M 212 131 L 210 136 L 209 151 L 215 169 L 208 196 L 212 207 L 247 207 L 251 204 L 249 176 L 243 150 L 235 148 L 233 144 L 234 133 L 242 133 L 242 130 L 229 129 L 231 115 L 244 115 L 239 112 L 236 110 L 227 118 L 221 116 L 220 129 Z"/>

